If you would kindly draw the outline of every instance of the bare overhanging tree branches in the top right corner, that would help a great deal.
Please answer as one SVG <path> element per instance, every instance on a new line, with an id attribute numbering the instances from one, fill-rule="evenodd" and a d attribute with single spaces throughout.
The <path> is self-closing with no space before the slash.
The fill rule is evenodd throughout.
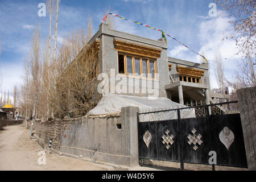
<path id="1" fill-rule="evenodd" d="M 229 13 L 229 16 L 236 18 L 230 20 L 230 24 L 234 26 L 236 35 L 230 35 L 230 39 L 236 39 L 236 44 L 240 48 L 240 52 L 247 55 L 256 55 L 255 52 L 255 23 L 256 23 L 256 1 L 255 0 L 214 0 L 220 3 L 223 10 Z M 224 39 L 227 39 L 226 36 Z M 237 53 L 237 54 L 238 54 Z"/>

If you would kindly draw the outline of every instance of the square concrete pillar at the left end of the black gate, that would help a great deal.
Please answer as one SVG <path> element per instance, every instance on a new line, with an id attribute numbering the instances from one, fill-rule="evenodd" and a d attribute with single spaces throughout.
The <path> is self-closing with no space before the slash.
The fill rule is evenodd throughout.
<path id="1" fill-rule="evenodd" d="M 130 156 L 130 166 L 139 165 L 138 123 L 139 107 L 122 107 L 122 155 Z"/>

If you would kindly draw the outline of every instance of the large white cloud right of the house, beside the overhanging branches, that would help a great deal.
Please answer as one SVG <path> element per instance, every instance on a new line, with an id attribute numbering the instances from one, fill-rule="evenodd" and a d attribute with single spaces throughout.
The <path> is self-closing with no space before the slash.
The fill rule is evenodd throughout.
<path id="1" fill-rule="evenodd" d="M 205 19 L 199 25 L 199 38 L 201 48 L 199 52 L 204 52 L 204 56 L 209 60 L 210 78 L 212 88 L 217 88 L 217 82 L 214 76 L 214 56 L 218 48 L 224 61 L 224 76 L 231 78 L 234 71 L 237 69 L 239 58 L 242 55 L 236 55 L 238 48 L 236 41 L 233 39 L 222 39 L 225 36 L 234 33 L 233 27 L 229 21 L 234 20 L 222 11 L 218 11 L 219 15 L 216 18 Z M 221 14 L 221 15 L 220 15 Z M 226 58 L 226 59 L 225 59 Z M 197 56 L 197 60 L 200 56 Z"/>

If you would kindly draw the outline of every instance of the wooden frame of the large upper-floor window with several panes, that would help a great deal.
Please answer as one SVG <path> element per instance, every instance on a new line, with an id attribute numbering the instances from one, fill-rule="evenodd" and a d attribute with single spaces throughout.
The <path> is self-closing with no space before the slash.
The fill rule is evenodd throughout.
<path id="1" fill-rule="evenodd" d="M 124 56 L 125 74 L 119 73 L 118 55 L 123 55 Z M 127 74 L 127 56 L 130 56 L 131 60 L 132 60 L 133 75 L 128 75 Z M 139 59 L 139 66 L 140 66 L 139 76 L 135 75 L 135 58 Z M 147 77 L 143 77 L 143 63 L 142 63 L 142 59 L 147 60 Z M 154 78 L 150 77 L 150 61 L 154 61 L 154 71 L 155 71 Z M 117 68 L 118 68 L 118 74 L 122 75 L 122 76 L 125 75 L 127 77 L 144 78 L 144 79 L 150 79 L 150 80 L 157 80 L 158 79 L 157 74 L 156 74 L 157 73 L 156 59 L 152 59 L 152 58 L 148 58 L 148 57 L 143 57 L 143 56 L 138 56 L 138 55 L 131 55 L 129 53 L 118 52 L 118 54 L 117 54 Z"/>

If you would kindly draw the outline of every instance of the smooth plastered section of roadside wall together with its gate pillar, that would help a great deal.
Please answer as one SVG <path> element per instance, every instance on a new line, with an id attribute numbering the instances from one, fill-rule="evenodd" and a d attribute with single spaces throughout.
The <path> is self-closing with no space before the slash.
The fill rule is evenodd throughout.
<path id="1" fill-rule="evenodd" d="M 137 111 L 138 107 L 123 107 L 121 117 L 70 122 L 68 129 L 61 131 L 60 151 L 102 162 L 138 165 Z"/>

